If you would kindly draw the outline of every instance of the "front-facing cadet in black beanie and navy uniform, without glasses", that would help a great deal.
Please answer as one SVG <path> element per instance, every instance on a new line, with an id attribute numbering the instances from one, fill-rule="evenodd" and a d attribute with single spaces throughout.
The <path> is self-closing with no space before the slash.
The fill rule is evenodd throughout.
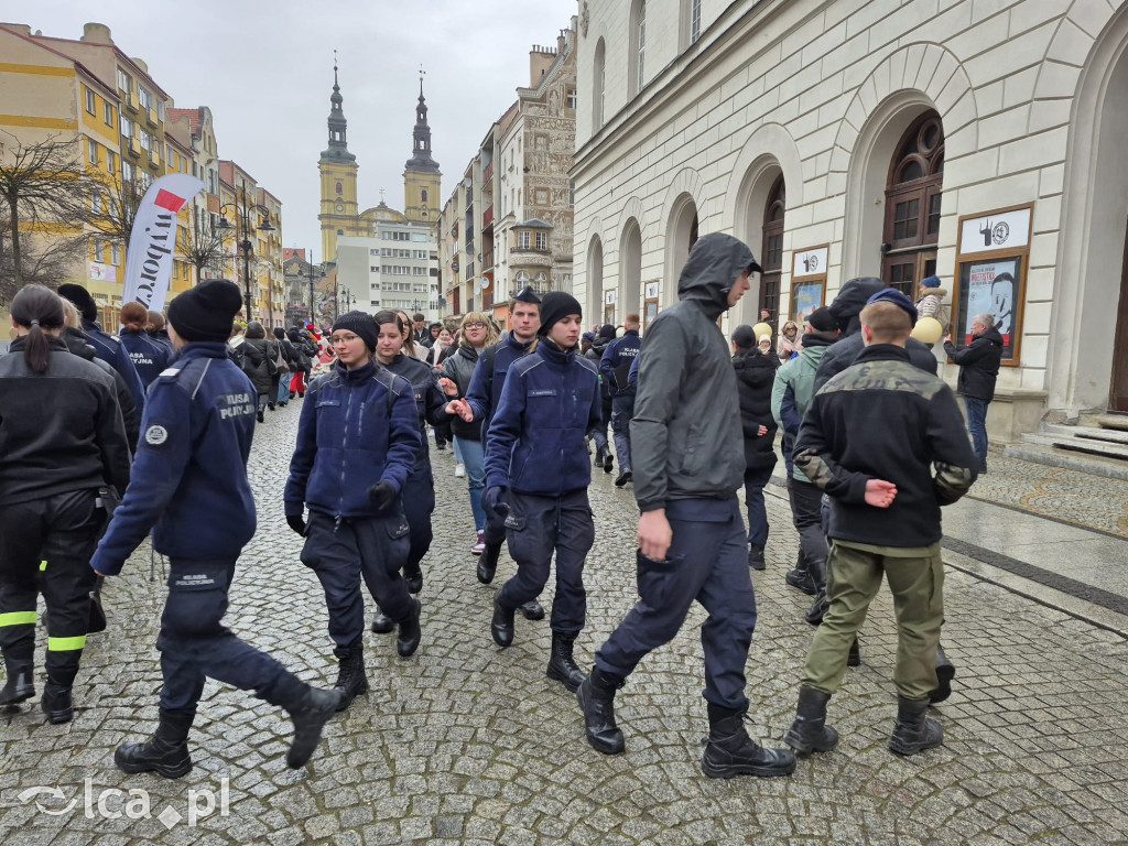
<path id="1" fill-rule="evenodd" d="M 544 590 L 555 552 L 547 676 L 570 690 L 584 678 L 572 649 L 587 617 L 583 565 L 596 540 L 584 435 L 600 418 L 599 374 L 579 354 L 581 317 L 570 294 L 552 291 L 541 300 L 540 340 L 510 365 L 486 434 L 483 499 L 487 510 L 508 510 L 509 554 L 517 562 L 517 575 L 494 598 L 494 642 L 513 643 L 513 614 Z"/>

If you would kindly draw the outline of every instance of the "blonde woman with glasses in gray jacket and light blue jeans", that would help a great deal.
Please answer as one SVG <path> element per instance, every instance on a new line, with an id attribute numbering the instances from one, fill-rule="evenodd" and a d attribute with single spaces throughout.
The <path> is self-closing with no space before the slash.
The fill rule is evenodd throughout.
<path id="1" fill-rule="evenodd" d="M 478 363 L 478 354 L 491 344 L 497 343 L 497 331 L 493 327 L 490 318 L 481 311 L 472 311 L 462 318 L 461 340 L 458 350 L 451 354 L 442 365 L 442 378 L 439 387 L 451 399 L 466 396 L 470 387 L 470 377 L 474 368 Z M 470 485 L 470 511 L 474 514 L 474 527 L 477 530 L 477 539 L 470 552 L 482 555 L 485 550 L 485 539 L 483 531 L 486 527 L 486 512 L 482 506 L 482 493 L 485 488 L 485 449 L 482 431 L 482 421 L 473 420 L 467 423 L 461 417 L 451 417 L 451 429 L 455 432 L 455 443 L 458 446 L 466 465 L 466 476 Z"/>

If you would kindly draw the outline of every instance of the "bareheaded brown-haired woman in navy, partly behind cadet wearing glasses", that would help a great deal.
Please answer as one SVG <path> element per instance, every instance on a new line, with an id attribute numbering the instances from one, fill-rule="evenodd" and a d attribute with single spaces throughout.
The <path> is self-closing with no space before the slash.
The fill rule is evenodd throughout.
<path id="1" fill-rule="evenodd" d="M 389 373 L 402 376 L 412 385 L 415 406 L 418 409 L 420 451 L 416 453 L 415 466 L 404 483 L 403 505 L 404 517 L 411 528 L 411 548 L 404 563 L 404 580 L 408 593 L 423 590 L 423 570 L 420 562 L 431 548 L 434 531 L 431 528 L 431 514 L 434 511 L 434 476 L 431 473 L 431 451 L 426 440 L 426 424 L 441 426 L 450 422 L 450 415 L 444 411 L 447 397 L 439 390 L 439 380 L 430 364 L 425 364 L 412 355 L 404 355 L 404 342 L 408 337 L 411 324 L 404 325 L 395 311 L 385 309 L 376 317 L 379 336 L 376 342 L 376 360 Z M 386 634 L 396 627 L 379 608 L 372 619 L 372 632 Z"/>

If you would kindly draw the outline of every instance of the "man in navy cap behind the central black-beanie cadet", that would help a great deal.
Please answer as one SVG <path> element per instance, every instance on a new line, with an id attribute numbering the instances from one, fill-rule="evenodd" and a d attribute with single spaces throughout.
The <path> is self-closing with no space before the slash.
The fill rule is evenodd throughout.
<path id="1" fill-rule="evenodd" d="M 490 429 L 490 421 L 501 404 L 501 393 L 505 387 L 505 373 L 518 359 L 528 355 L 537 340 L 540 326 L 540 298 L 530 285 L 526 285 L 509 302 L 509 335 L 493 346 L 487 346 L 470 377 L 466 389 L 466 402 L 474 416 L 482 421 L 483 439 Z M 501 545 L 505 540 L 505 514 L 486 509 L 485 552 L 478 559 L 478 581 L 490 584 L 497 572 Z M 545 609 L 536 599 L 520 608 L 526 619 L 545 618 Z"/>

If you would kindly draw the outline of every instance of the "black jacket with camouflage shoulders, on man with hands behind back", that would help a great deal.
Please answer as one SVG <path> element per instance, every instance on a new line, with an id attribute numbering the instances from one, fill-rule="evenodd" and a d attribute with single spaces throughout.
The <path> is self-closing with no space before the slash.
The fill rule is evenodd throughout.
<path id="1" fill-rule="evenodd" d="M 891 344 L 866 347 L 816 394 L 795 465 L 831 497 L 830 538 L 880 546 L 938 541 L 940 506 L 976 478 L 952 389 Z M 874 478 L 897 485 L 888 509 L 865 503 L 865 483 Z"/>

